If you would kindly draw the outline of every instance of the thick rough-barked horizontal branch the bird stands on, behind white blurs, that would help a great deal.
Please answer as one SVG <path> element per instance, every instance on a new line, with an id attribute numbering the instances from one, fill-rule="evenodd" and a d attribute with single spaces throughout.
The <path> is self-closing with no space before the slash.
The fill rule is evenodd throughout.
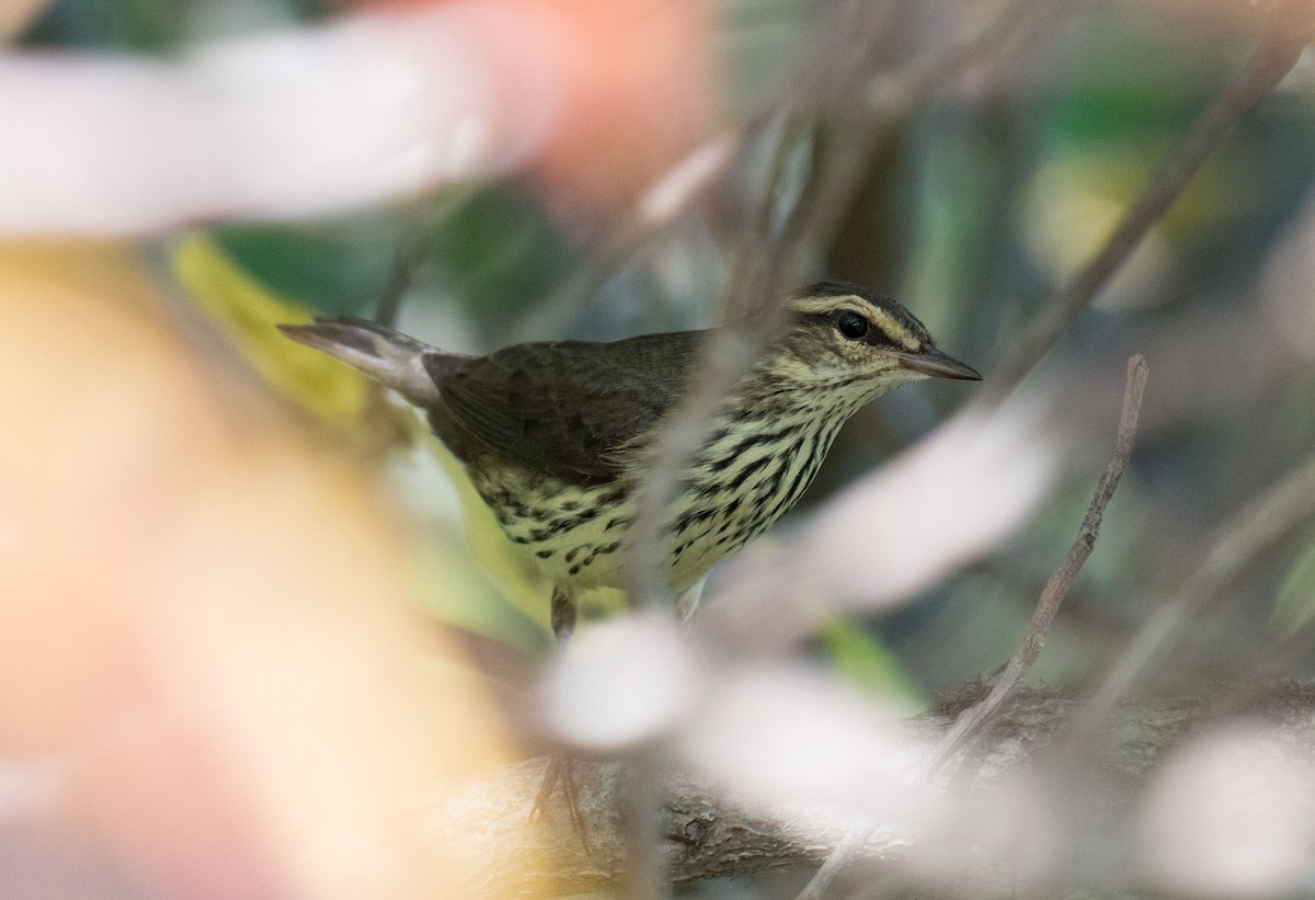
<path id="1" fill-rule="evenodd" d="M 918 746 L 871 747 L 873 764 L 903 770 L 910 750 L 930 757 L 957 713 L 976 705 L 982 691 L 982 686 L 970 684 L 924 717 Z M 1009 783 L 1011 774 L 1034 763 L 1055 736 L 1065 730 L 1076 709 L 1074 701 L 1048 691 L 1022 691 L 1014 696 L 973 755 L 974 796 L 978 800 L 992 796 Z M 1208 709 L 1208 701 L 1195 697 L 1120 707 L 1118 721 L 1109 730 L 1118 736 L 1118 745 L 1109 754 L 1102 753 L 1099 763 L 1093 761 L 1093 766 L 1099 764 L 1109 784 L 1116 786 L 1111 789 L 1124 792 L 1122 799 L 1127 800 L 1162 764 L 1168 751 L 1203 722 Z M 1315 717 L 1315 687 L 1273 684 L 1243 712 L 1272 720 L 1281 733 L 1315 753 L 1310 728 Z M 580 805 L 589 822 L 588 854 L 563 809 L 551 809 L 540 829 L 526 825 L 544 764 L 546 759 L 534 759 L 463 782 L 446 791 L 430 811 L 431 833 L 443 846 L 455 847 L 471 861 L 467 871 L 473 876 L 467 893 L 544 896 L 623 886 L 622 838 L 615 818 L 622 764 L 577 763 Z M 668 779 L 661 795 L 665 805 L 659 850 L 672 884 L 807 870 L 821 864 L 846 836 L 834 808 L 792 805 L 788 813 L 775 816 L 748 812 L 686 778 Z M 1112 825 L 1127 828 L 1127 821 Z M 1109 838 L 1118 842 L 1115 834 Z M 1081 839 L 1099 839 L 1099 836 L 1084 834 Z M 907 830 L 885 829 L 871 836 L 856 861 L 898 868 L 901 861 L 926 849 Z M 956 853 L 964 867 L 981 866 L 1007 874 L 1007 861 L 972 859 L 967 851 Z M 945 878 L 961 874 L 947 872 Z M 1115 876 L 1111 871 L 1111 878 Z"/>

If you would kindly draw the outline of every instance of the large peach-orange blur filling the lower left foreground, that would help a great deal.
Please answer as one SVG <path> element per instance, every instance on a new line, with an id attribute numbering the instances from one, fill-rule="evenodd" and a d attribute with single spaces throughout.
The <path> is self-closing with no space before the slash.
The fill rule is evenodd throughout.
<path id="1" fill-rule="evenodd" d="M 0 247 L 0 854 L 58 847 L 4 892 L 452 896 L 490 711 L 363 486 L 162 321 L 128 253 Z"/>

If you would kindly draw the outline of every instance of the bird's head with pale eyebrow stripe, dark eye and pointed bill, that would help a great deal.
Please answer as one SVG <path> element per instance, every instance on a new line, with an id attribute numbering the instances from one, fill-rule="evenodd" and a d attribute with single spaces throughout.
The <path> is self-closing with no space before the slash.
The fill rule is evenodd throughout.
<path id="1" fill-rule="evenodd" d="M 936 349 L 913 313 L 856 284 L 825 282 L 786 300 L 788 329 L 768 366 L 777 378 L 867 399 L 923 378 L 980 380 Z"/>

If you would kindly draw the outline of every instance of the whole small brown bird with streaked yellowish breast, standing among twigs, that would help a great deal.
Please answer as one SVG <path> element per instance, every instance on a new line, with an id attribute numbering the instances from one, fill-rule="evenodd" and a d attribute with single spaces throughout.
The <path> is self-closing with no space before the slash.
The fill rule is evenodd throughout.
<path id="1" fill-rule="evenodd" d="M 905 382 L 981 378 L 898 303 L 857 286 L 815 284 L 786 304 L 789 326 L 727 393 L 667 513 L 676 592 L 800 499 L 860 407 Z M 466 357 L 358 318 L 280 328 L 425 411 L 506 536 L 552 580 L 562 645 L 577 591 L 622 586 L 646 450 L 690 382 L 702 332 Z"/>

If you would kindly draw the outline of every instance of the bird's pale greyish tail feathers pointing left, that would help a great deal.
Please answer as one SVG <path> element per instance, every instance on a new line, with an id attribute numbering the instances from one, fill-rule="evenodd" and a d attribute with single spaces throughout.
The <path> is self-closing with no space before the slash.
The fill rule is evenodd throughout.
<path id="1" fill-rule="evenodd" d="M 425 358 L 456 357 L 391 328 L 351 316 L 317 318 L 310 325 L 279 325 L 279 330 L 297 343 L 314 347 L 360 370 L 419 407 L 439 399 L 438 386 L 425 367 Z M 434 362 L 437 359 L 431 359 L 430 364 Z"/>

